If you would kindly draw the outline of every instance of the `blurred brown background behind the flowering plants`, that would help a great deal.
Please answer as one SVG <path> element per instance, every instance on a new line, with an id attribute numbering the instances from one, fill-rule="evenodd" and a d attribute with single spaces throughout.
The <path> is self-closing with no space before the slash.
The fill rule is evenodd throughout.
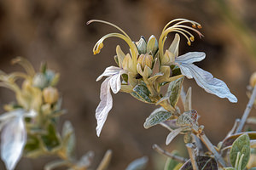
<path id="1" fill-rule="evenodd" d="M 95 109 L 101 86 L 96 77 L 107 66 L 115 65 L 116 45 L 126 48 L 126 52 L 128 49 L 121 40 L 110 38 L 101 54 L 94 56 L 92 48 L 96 41 L 116 30 L 98 23 L 86 26 L 86 21 L 108 20 L 125 30 L 134 41 L 142 35 L 147 39 L 152 34 L 159 37 L 163 26 L 176 18 L 201 23 L 205 37 L 196 37 L 190 47 L 183 38 L 180 54 L 205 52 L 207 58 L 197 65 L 226 82 L 238 98 L 238 103 L 231 104 L 228 99 L 207 94 L 194 80 L 185 80 L 185 89 L 189 86 L 193 89 L 193 108 L 201 115 L 200 123 L 212 143 L 218 144 L 247 105 L 246 87 L 256 70 L 255 8 L 253 0 L 2 0 L 0 70 L 20 71 L 19 66 L 10 65 L 10 59 L 23 56 L 36 68 L 46 61 L 49 68 L 61 73 L 58 88 L 63 107 L 68 111 L 61 122 L 68 119 L 73 123 L 79 156 L 88 150 L 95 151 L 94 167 L 104 152 L 111 149 L 111 170 L 125 169 L 141 156 L 149 157 L 147 169 L 162 169 L 166 157 L 152 150 L 152 144 L 160 144 L 170 151 L 180 150 L 183 156 L 186 151 L 181 137 L 165 145 L 168 131 L 163 127 L 143 128 L 154 105 L 138 102 L 129 94 L 114 94 L 113 109 L 101 137 L 96 137 Z M 1 105 L 12 99 L 12 92 L 0 88 Z M 255 110 L 252 115 L 255 116 Z M 48 161 L 49 158 L 22 159 L 16 169 L 43 169 Z"/>

